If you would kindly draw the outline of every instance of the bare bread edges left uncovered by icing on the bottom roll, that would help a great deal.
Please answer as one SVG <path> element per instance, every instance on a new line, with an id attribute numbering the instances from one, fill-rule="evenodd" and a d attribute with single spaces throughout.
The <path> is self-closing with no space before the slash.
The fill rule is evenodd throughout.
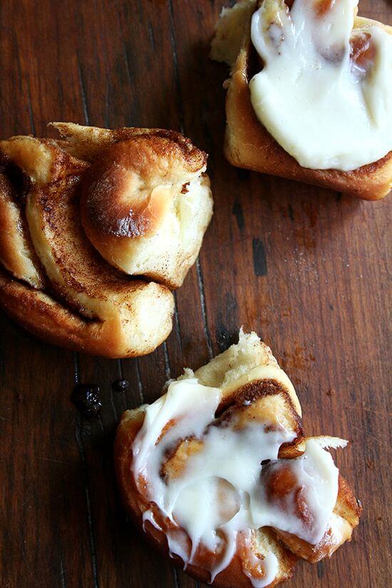
<path id="1" fill-rule="evenodd" d="M 257 371 L 263 374 L 258 378 Z M 272 398 L 273 410 L 276 408 L 275 418 L 289 422 L 296 431 L 296 438 L 292 443 L 284 444 L 279 450 L 279 457 L 293 458 L 304 452 L 306 438 L 301 426 L 301 406 L 296 396 L 294 386 L 286 373 L 279 368 L 271 350 L 254 332 L 239 333 L 239 343 L 234 344 L 227 351 L 212 359 L 193 374 L 185 371 L 185 376 L 197 378 L 205 386 L 215 386 L 222 390 L 222 402 L 218 411 L 225 410 L 225 406 L 232 406 L 238 401 L 238 406 L 244 406 L 244 395 L 247 398 Z M 271 410 L 271 409 L 270 409 Z M 125 411 L 118 426 L 115 438 L 115 472 L 120 489 L 120 495 L 125 509 L 134 522 L 144 532 L 149 542 L 163 554 L 170 555 L 167 540 L 162 531 L 146 521 L 143 525 L 143 513 L 149 509 L 150 503 L 136 488 L 131 464 L 133 460 L 133 440 L 143 425 L 145 406 Z M 284 422 L 284 421 L 279 421 Z M 324 447 L 339 446 L 341 440 L 336 438 L 319 438 Z M 286 446 L 285 446 L 286 445 Z M 254 532 L 252 536 L 252 553 L 257 557 L 265 557 L 272 551 L 279 562 L 279 569 L 269 588 L 285 582 L 294 574 L 294 567 L 298 558 L 309 562 L 318 562 L 323 557 L 331 557 L 333 552 L 344 542 L 351 540 L 354 528 L 359 524 L 361 503 L 354 497 L 346 480 L 339 474 L 339 493 L 334 508 L 333 526 L 327 530 L 319 545 L 309 545 L 294 535 L 277 532 L 269 527 Z M 332 522 L 331 522 L 332 525 Z M 177 555 L 172 555 L 175 563 L 183 567 L 183 562 Z M 252 583 L 243 572 L 241 559 L 236 553 L 229 566 L 215 577 L 212 586 L 217 588 L 251 588 Z M 186 571 L 201 580 L 210 582 L 210 574 L 202 566 L 188 564 Z"/>

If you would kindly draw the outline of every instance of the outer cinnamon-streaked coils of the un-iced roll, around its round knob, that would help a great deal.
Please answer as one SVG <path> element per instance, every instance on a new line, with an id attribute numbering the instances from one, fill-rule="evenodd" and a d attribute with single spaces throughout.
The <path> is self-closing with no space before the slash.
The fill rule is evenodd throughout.
<path id="1" fill-rule="evenodd" d="M 53 140 L 16 137 L 0 147 L 0 263 L 8 270 L 0 274 L 1 306 L 69 349 L 107 357 L 153 351 L 172 329 L 172 293 L 119 272 L 88 241 L 79 195 L 90 164 Z M 23 195 L 12 166 L 29 177 Z"/>

